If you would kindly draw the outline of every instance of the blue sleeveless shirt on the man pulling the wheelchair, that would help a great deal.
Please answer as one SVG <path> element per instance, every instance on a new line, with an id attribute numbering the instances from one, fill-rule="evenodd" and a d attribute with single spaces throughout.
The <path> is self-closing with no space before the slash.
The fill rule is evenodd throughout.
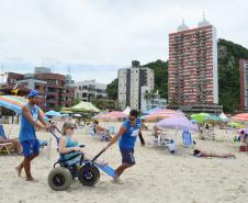
<path id="1" fill-rule="evenodd" d="M 132 126 L 131 121 L 127 120 L 123 123 L 123 126 L 125 126 L 126 132 L 121 136 L 119 146 L 121 149 L 133 149 L 142 126 L 142 121 L 137 119 L 135 125 Z"/>

